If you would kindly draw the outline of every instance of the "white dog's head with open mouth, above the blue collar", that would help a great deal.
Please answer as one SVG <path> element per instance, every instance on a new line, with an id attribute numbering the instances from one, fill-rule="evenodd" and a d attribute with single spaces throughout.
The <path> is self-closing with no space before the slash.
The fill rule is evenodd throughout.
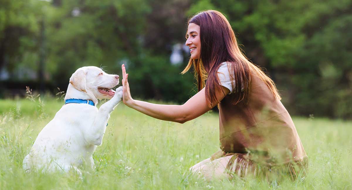
<path id="1" fill-rule="evenodd" d="M 109 75 L 99 67 L 81 67 L 70 77 L 70 83 L 77 90 L 96 99 L 111 99 L 115 91 L 111 88 L 119 84 L 119 75 Z"/>

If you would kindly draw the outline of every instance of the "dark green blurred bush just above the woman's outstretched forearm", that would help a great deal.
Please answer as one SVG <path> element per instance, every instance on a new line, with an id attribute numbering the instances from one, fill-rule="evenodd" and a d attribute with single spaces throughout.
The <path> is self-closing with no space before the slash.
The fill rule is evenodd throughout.
<path id="1" fill-rule="evenodd" d="M 128 81 L 133 85 L 131 93 L 143 99 L 185 102 L 184 97 L 195 94 L 193 75 L 180 74 L 181 66 L 169 65 L 165 57 L 142 55 L 127 63 Z M 143 93 L 139 93 L 143 92 Z"/>

